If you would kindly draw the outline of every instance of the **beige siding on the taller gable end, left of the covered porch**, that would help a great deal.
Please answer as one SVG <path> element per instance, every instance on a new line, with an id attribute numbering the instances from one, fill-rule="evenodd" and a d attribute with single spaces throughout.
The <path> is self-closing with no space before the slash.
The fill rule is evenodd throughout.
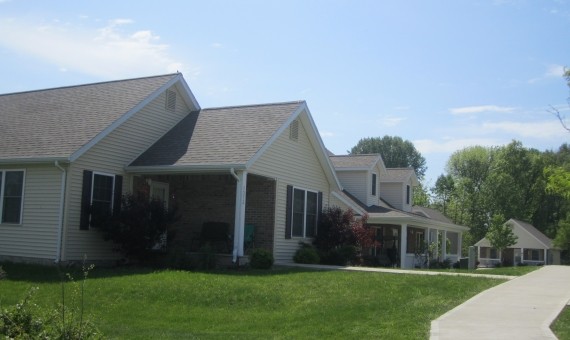
<path id="1" fill-rule="evenodd" d="M 72 164 L 68 177 L 64 260 L 79 260 L 84 256 L 91 260 L 111 260 L 117 257 L 111 251 L 111 244 L 104 242 L 96 230 L 79 229 L 83 170 L 124 176 L 123 169 L 126 165 L 190 111 L 180 95 L 177 96 L 176 105 L 176 112 L 166 111 L 163 93 Z M 124 192 L 130 190 L 130 183 L 131 178 L 125 176 Z"/>

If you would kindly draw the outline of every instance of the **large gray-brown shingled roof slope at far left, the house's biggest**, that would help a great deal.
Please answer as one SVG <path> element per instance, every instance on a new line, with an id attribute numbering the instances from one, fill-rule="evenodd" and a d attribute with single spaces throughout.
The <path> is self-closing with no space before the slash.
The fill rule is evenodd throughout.
<path id="1" fill-rule="evenodd" d="M 176 76 L 0 95 L 0 159 L 68 158 Z"/>

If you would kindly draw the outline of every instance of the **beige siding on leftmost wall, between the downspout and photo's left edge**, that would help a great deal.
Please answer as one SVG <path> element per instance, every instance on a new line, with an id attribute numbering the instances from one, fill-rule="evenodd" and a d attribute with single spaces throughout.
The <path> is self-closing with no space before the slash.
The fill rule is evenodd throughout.
<path id="1" fill-rule="evenodd" d="M 12 169 L 25 170 L 22 224 L 0 224 L 0 256 L 55 260 L 61 171 L 54 165 Z"/>

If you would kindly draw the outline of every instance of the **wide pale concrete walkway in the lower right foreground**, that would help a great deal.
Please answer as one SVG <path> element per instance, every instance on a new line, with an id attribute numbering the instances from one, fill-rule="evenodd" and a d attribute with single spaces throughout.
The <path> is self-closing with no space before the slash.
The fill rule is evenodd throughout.
<path id="1" fill-rule="evenodd" d="M 556 339 L 570 302 L 570 267 L 546 266 L 488 289 L 431 323 L 431 340 Z"/>

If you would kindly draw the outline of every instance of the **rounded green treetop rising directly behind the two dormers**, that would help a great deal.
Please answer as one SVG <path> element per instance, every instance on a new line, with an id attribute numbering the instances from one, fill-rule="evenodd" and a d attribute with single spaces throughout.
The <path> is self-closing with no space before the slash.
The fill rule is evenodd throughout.
<path id="1" fill-rule="evenodd" d="M 349 151 L 351 155 L 378 153 L 387 168 L 414 168 L 418 179 L 425 176 L 426 160 L 409 140 L 401 137 L 384 136 L 362 138 Z"/>

